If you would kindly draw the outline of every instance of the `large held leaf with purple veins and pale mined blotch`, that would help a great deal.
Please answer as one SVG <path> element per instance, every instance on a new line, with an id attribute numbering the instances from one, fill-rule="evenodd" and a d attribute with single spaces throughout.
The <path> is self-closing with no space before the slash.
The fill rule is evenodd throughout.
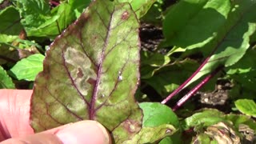
<path id="1" fill-rule="evenodd" d="M 91 119 L 106 126 L 117 143 L 137 134 L 138 27 L 128 3 L 92 2 L 46 53 L 31 102 L 34 130 Z"/>

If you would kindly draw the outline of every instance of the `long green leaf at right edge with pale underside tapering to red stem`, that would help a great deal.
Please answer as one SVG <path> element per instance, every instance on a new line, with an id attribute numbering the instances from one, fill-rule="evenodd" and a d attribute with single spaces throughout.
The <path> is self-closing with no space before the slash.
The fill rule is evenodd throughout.
<path id="1" fill-rule="evenodd" d="M 208 74 L 217 66 L 234 65 L 246 54 L 246 50 L 250 47 L 250 36 L 256 30 L 256 13 L 253 8 L 256 6 L 256 2 L 250 0 L 234 1 L 232 4 L 232 11 L 224 25 L 224 27 L 230 28 L 223 28 L 222 31 L 218 32 L 216 40 L 207 45 L 215 47 L 214 54 L 191 82 L 204 74 Z"/>

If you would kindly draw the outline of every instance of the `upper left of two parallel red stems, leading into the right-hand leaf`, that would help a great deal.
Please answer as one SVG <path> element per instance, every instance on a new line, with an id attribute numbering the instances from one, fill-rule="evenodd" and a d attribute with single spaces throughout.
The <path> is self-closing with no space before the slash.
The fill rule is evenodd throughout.
<path id="1" fill-rule="evenodd" d="M 206 60 L 205 60 L 204 62 L 202 62 L 202 65 L 198 67 L 198 70 L 196 70 L 196 71 L 194 72 L 194 74 L 192 74 L 192 75 L 190 76 L 190 78 L 187 78 L 186 81 L 183 82 L 181 86 L 178 86 L 178 88 L 177 88 L 176 90 L 174 90 L 170 95 L 168 95 L 168 97 L 166 97 L 164 100 L 162 100 L 161 103 L 162 103 L 162 104 L 166 104 L 166 102 L 168 102 L 168 101 L 170 100 L 170 98 L 173 98 L 176 94 L 178 94 L 178 93 L 183 89 L 183 87 L 185 87 L 186 84 L 187 84 L 188 82 L 190 82 L 191 79 L 194 78 L 194 76 L 195 76 L 196 74 L 198 74 L 198 72 L 202 69 L 202 67 L 206 65 L 206 63 L 208 62 L 209 59 L 210 59 L 210 57 L 207 57 Z"/>

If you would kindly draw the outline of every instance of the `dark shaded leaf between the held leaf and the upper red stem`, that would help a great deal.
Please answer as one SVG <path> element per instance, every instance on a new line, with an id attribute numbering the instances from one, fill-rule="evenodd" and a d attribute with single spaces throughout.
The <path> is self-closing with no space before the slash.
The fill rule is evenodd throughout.
<path id="1" fill-rule="evenodd" d="M 141 68 L 141 74 L 154 74 L 151 78 L 147 76 L 147 79 L 142 79 L 150 86 L 154 87 L 154 90 L 162 96 L 170 94 L 172 90 L 175 90 L 182 82 L 186 80 L 194 70 L 198 67 L 198 62 L 186 58 L 182 61 L 175 61 L 165 66 L 152 67 L 143 66 Z M 144 77 L 145 78 L 145 75 Z"/>

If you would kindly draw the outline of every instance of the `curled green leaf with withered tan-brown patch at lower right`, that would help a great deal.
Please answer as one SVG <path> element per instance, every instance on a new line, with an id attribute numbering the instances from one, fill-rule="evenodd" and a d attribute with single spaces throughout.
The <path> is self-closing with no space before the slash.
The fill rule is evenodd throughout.
<path id="1" fill-rule="evenodd" d="M 241 130 L 241 126 L 248 126 L 249 129 L 256 130 L 256 123 L 250 117 L 242 114 L 223 114 L 214 109 L 201 110 L 183 122 L 185 130 L 193 128 L 197 132 L 197 136 L 193 140 L 196 143 L 208 141 L 208 138 L 211 142 L 240 143 L 241 134 L 238 134 L 238 131 Z"/>

